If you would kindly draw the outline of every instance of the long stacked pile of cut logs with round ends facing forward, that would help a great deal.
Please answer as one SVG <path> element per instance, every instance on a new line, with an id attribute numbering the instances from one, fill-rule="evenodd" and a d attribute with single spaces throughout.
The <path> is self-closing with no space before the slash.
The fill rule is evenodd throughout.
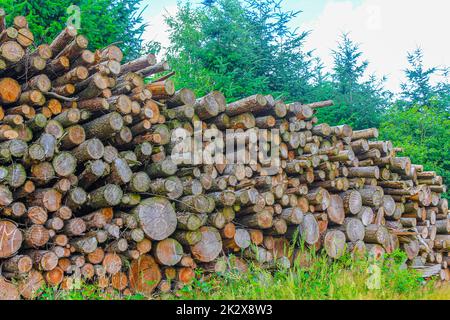
<path id="1" fill-rule="evenodd" d="M 332 101 L 196 98 L 174 88 L 173 73 L 158 78 L 169 66 L 154 55 L 121 64 L 118 47 L 90 51 L 70 26 L 34 47 L 25 17 L 10 27 L 4 18 L 0 10 L 0 298 L 79 279 L 168 292 L 197 267 L 305 264 L 303 251 L 287 250 L 297 238 L 331 259 L 401 248 L 411 267 L 449 280 L 442 178 L 374 128 L 318 124 L 315 110 Z M 279 134 L 259 141 L 257 161 L 235 150 L 237 163 L 177 162 L 172 133 L 194 136 L 198 124 L 237 130 L 202 150 L 230 136 L 248 147 L 257 128 Z"/>

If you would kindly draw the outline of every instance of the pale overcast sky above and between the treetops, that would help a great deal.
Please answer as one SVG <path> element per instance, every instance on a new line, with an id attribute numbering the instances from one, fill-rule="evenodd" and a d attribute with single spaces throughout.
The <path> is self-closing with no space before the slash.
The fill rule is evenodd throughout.
<path id="1" fill-rule="evenodd" d="M 167 46 L 164 15 L 176 13 L 177 1 L 143 0 L 144 6 L 144 38 Z M 284 7 L 303 11 L 292 27 L 311 30 L 306 49 L 315 49 L 326 66 L 332 66 L 330 52 L 340 33 L 349 32 L 370 62 L 369 72 L 386 75 L 390 90 L 399 90 L 406 52 L 418 46 L 425 65 L 450 66 L 449 0 L 285 0 Z"/>

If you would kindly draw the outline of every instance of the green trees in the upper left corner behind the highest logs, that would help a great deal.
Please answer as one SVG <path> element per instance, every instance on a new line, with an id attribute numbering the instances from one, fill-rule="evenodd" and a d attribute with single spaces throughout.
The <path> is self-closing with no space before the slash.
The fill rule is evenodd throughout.
<path id="1" fill-rule="evenodd" d="M 141 0 L 0 0 L 10 22 L 14 16 L 27 17 L 36 43 L 50 43 L 64 29 L 76 5 L 81 10 L 82 34 L 88 36 L 90 48 L 103 48 L 117 43 L 127 59 L 142 52 Z"/>

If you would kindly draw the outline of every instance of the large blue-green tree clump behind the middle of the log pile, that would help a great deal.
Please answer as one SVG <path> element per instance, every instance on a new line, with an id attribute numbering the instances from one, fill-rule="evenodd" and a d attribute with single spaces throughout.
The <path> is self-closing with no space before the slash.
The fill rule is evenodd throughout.
<path id="1" fill-rule="evenodd" d="M 307 33 L 288 28 L 297 14 L 282 11 L 275 0 L 180 3 L 166 20 L 177 85 L 199 95 L 218 89 L 230 100 L 248 92 L 304 98 L 312 60 L 302 50 Z"/>

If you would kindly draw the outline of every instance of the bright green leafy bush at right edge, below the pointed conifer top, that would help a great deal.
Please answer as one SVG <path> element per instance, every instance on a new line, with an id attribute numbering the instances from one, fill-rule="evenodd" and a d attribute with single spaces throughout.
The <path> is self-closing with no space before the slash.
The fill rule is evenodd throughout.
<path id="1" fill-rule="evenodd" d="M 419 105 L 406 110 L 394 106 L 381 124 L 381 136 L 403 147 L 413 163 L 436 170 L 445 182 L 450 181 L 450 112 Z"/>

